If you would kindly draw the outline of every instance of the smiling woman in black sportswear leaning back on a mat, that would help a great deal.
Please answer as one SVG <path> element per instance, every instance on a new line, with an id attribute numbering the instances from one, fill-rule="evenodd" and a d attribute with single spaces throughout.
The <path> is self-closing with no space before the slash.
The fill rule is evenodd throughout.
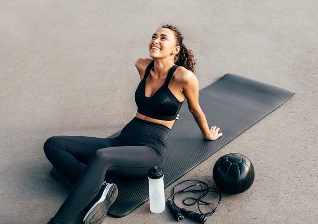
<path id="1" fill-rule="evenodd" d="M 169 133 L 185 98 L 204 138 L 222 136 L 218 127 L 209 129 L 199 106 L 193 54 L 182 40 L 172 25 L 152 35 L 150 58 L 135 64 L 141 79 L 135 92 L 138 111 L 118 137 L 54 136 L 45 142 L 48 160 L 74 185 L 49 223 L 68 223 L 84 208 L 83 223 L 102 223 L 117 197 L 117 186 L 104 181 L 106 171 L 146 177 L 152 166 L 162 167 Z M 80 162 L 87 164 L 85 169 Z"/>

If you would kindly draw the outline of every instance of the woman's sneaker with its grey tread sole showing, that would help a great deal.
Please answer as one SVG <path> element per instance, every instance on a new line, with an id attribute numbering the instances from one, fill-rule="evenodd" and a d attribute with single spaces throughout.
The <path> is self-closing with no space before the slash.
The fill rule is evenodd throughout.
<path id="1" fill-rule="evenodd" d="M 118 195 L 118 188 L 115 184 L 108 184 L 104 189 L 101 198 L 86 213 L 84 224 L 101 224 L 106 218 L 109 207 L 114 203 Z"/>

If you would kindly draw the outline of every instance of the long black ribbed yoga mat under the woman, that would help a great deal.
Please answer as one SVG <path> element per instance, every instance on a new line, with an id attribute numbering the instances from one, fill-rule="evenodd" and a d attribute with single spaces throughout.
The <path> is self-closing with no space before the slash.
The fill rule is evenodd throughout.
<path id="1" fill-rule="evenodd" d="M 204 140 L 185 101 L 168 139 L 167 160 L 163 167 L 165 187 L 274 111 L 293 94 L 292 91 L 233 74 L 226 74 L 200 90 L 199 104 L 209 127 L 220 127 L 223 136 L 215 141 Z M 129 179 L 106 174 L 106 180 L 118 186 L 118 198 L 108 211 L 113 217 L 126 216 L 149 199 L 147 178 Z"/>

